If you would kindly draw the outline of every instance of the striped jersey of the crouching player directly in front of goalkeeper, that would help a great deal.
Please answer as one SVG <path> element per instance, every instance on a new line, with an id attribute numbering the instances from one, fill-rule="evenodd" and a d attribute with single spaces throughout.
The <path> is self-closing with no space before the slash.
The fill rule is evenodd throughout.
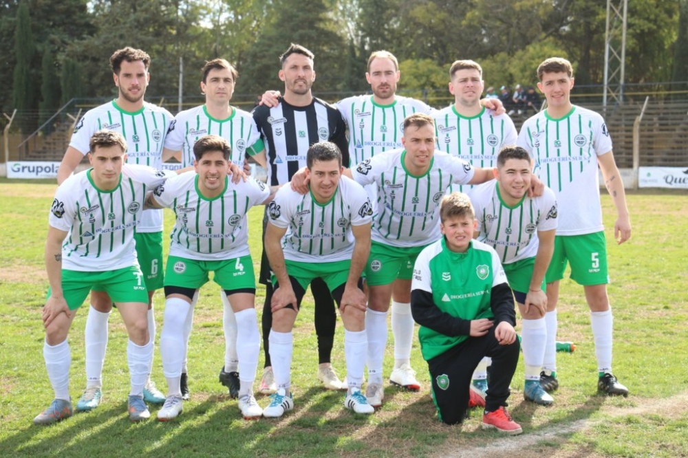
<path id="1" fill-rule="evenodd" d="M 287 229 L 282 239 L 284 259 L 308 263 L 351 259 L 351 228 L 370 223 L 372 214 L 367 193 L 348 177 L 341 177 L 326 204 L 319 204 L 312 193 L 301 195 L 290 186 L 282 186 L 268 204 L 270 223 Z"/>

